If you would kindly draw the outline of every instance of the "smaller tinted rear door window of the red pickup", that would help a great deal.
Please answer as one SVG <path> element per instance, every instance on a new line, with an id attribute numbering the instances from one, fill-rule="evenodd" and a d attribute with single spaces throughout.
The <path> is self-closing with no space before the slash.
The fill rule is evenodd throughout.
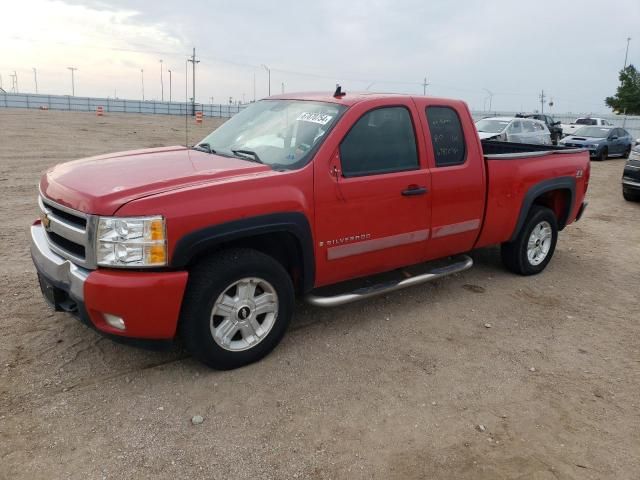
<path id="1" fill-rule="evenodd" d="M 427 107 L 427 121 L 437 167 L 464 163 L 466 148 L 458 114 L 449 107 Z"/>

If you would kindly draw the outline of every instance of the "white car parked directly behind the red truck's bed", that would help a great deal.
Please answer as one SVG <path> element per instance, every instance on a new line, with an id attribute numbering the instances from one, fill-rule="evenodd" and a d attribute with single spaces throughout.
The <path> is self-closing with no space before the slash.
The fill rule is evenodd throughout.
<path id="1" fill-rule="evenodd" d="M 540 120 L 532 118 L 491 117 L 476 122 L 480 140 L 551 145 L 551 133 Z"/>

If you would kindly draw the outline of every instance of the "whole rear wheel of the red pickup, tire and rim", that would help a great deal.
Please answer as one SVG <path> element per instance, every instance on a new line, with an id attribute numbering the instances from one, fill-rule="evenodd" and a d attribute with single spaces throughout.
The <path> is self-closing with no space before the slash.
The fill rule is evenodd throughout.
<path id="1" fill-rule="evenodd" d="M 545 269 L 558 241 L 558 222 L 553 210 L 534 205 L 513 242 L 502 244 L 502 262 L 520 275 L 535 275 Z"/>

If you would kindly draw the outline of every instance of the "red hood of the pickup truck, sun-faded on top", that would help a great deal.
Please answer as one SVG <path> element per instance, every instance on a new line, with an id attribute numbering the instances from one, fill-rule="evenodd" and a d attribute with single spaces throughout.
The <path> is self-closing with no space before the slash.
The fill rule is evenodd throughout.
<path id="1" fill-rule="evenodd" d="M 42 194 L 85 213 L 113 215 L 127 202 L 203 182 L 271 172 L 248 160 L 161 147 L 62 163 L 40 180 Z"/>

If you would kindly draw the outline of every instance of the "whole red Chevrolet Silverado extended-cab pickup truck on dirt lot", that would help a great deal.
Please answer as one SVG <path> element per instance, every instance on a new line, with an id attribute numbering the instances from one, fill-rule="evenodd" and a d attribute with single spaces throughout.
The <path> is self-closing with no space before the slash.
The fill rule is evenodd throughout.
<path id="1" fill-rule="evenodd" d="M 584 150 L 481 143 L 462 101 L 276 96 L 195 147 L 51 168 L 31 254 L 56 309 L 114 337 L 179 334 L 235 368 L 278 344 L 296 296 L 367 298 L 496 244 L 509 270 L 539 273 L 585 208 L 589 168 Z"/>

